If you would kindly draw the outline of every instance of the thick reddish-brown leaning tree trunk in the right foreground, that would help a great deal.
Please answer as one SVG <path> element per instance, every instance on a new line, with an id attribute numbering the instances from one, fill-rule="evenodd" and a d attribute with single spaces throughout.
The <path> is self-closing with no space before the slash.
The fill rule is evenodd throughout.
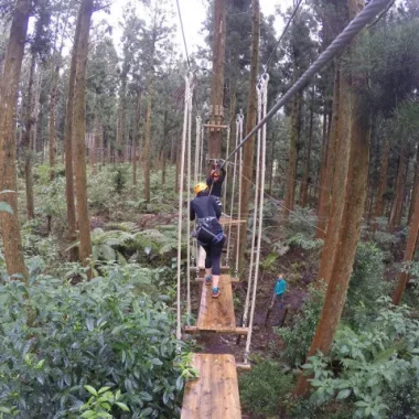
<path id="1" fill-rule="evenodd" d="M 348 0 L 352 19 L 362 7 L 362 0 Z M 319 351 L 325 355 L 330 353 L 345 303 L 346 290 L 359 239 L 368 178 L 370 117 L 367 105 L 357 92 L 365 89 L 365 76 L 361 74 L 356 74 L 352 79 L 351 114 L 348 115 L 352 127 L 351 158 L 345 208 L 331 281 L 327 286 L 323 310 L 308 356 L 314 355 Z M 300 375 L 296 388 L 297 396 L 303 396 L 308 393 L 310 388 L 309 378 Z"/>

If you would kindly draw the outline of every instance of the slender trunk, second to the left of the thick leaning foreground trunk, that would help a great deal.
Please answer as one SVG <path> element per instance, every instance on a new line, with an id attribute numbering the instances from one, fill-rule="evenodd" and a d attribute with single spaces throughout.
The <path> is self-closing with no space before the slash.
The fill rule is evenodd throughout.
<path id="1" fill-rule="evenodd" d="M 324 238 L 325 229 L 327 225 L 327 216 L 330 208 L 330 200 L 332 193 L 333 185 L 333 172 L 335 166 L 336 159 L 336 147 L 337 147 L 337 127 L 339 127 L 339 105 L 340 105 L 340 78 L 341 72 L 339 69 L 339 64 L 335 64 L 334 71 L 334 86 L 333 86 L 333 105 L 332 105 L 332 119 L 331 119 L 331 128 L 329 132 L 329 141 L 327 141 L 327 157 L 326 157 L 326 165 L 323 169 L 323 182 L 322 189 L 320 190 L 320 198 L 319 198 L 319 212 L 318 212 L 318 229 L 316 237 Z"/>

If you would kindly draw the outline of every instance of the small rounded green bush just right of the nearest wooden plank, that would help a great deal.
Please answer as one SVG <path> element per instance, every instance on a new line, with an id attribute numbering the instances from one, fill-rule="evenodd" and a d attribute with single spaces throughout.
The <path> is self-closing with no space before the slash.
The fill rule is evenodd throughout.
<path id="1" fill-rule="evenodd" d="M 278 415 L 292 386 L 292 375 L 286 374 L 279 364 L 264 361 L 240 376 L 240 400 L 254 413 Z"/>

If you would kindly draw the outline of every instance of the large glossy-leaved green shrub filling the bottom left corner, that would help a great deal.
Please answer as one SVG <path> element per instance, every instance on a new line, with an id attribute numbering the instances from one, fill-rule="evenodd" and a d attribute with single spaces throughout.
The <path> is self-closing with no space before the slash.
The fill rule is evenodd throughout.
<path id="1" fill-rule="evenodd" d="M 141 275 L 105 273 L 76 286 L 51 277 L 0 284 L 0 406 L 17 418 L 79 418 L 86 385 L 122 393 L 131 412 L 115 417 L 179 415 L 187 363 L 164 296 L 146 296 Z"/>

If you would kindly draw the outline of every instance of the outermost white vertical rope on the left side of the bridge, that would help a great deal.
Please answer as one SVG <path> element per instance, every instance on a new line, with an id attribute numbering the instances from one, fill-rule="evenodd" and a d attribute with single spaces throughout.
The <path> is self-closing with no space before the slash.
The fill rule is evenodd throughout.
<path id="1" fill-rule="evenodd" d="M 182 260 L 182 208 L 183 208 L 183 183 L 184 183 L 184 165 L 185 165 L 185 150 L 186 137 L 189 132 L 189 118 L 192 111 L 192 95 L 193 95 L 193 75 L 189 73 L 185 76 L 185 109 L 183 116 L 183 132 L 182 132 L 182 151 L 181 151 L 181 179 L 179 184 L 179 216 L 178 216 L 178 294 L 176 294 L 176 337 L 182 337 L 181 324 L 181 260 Z"/>

